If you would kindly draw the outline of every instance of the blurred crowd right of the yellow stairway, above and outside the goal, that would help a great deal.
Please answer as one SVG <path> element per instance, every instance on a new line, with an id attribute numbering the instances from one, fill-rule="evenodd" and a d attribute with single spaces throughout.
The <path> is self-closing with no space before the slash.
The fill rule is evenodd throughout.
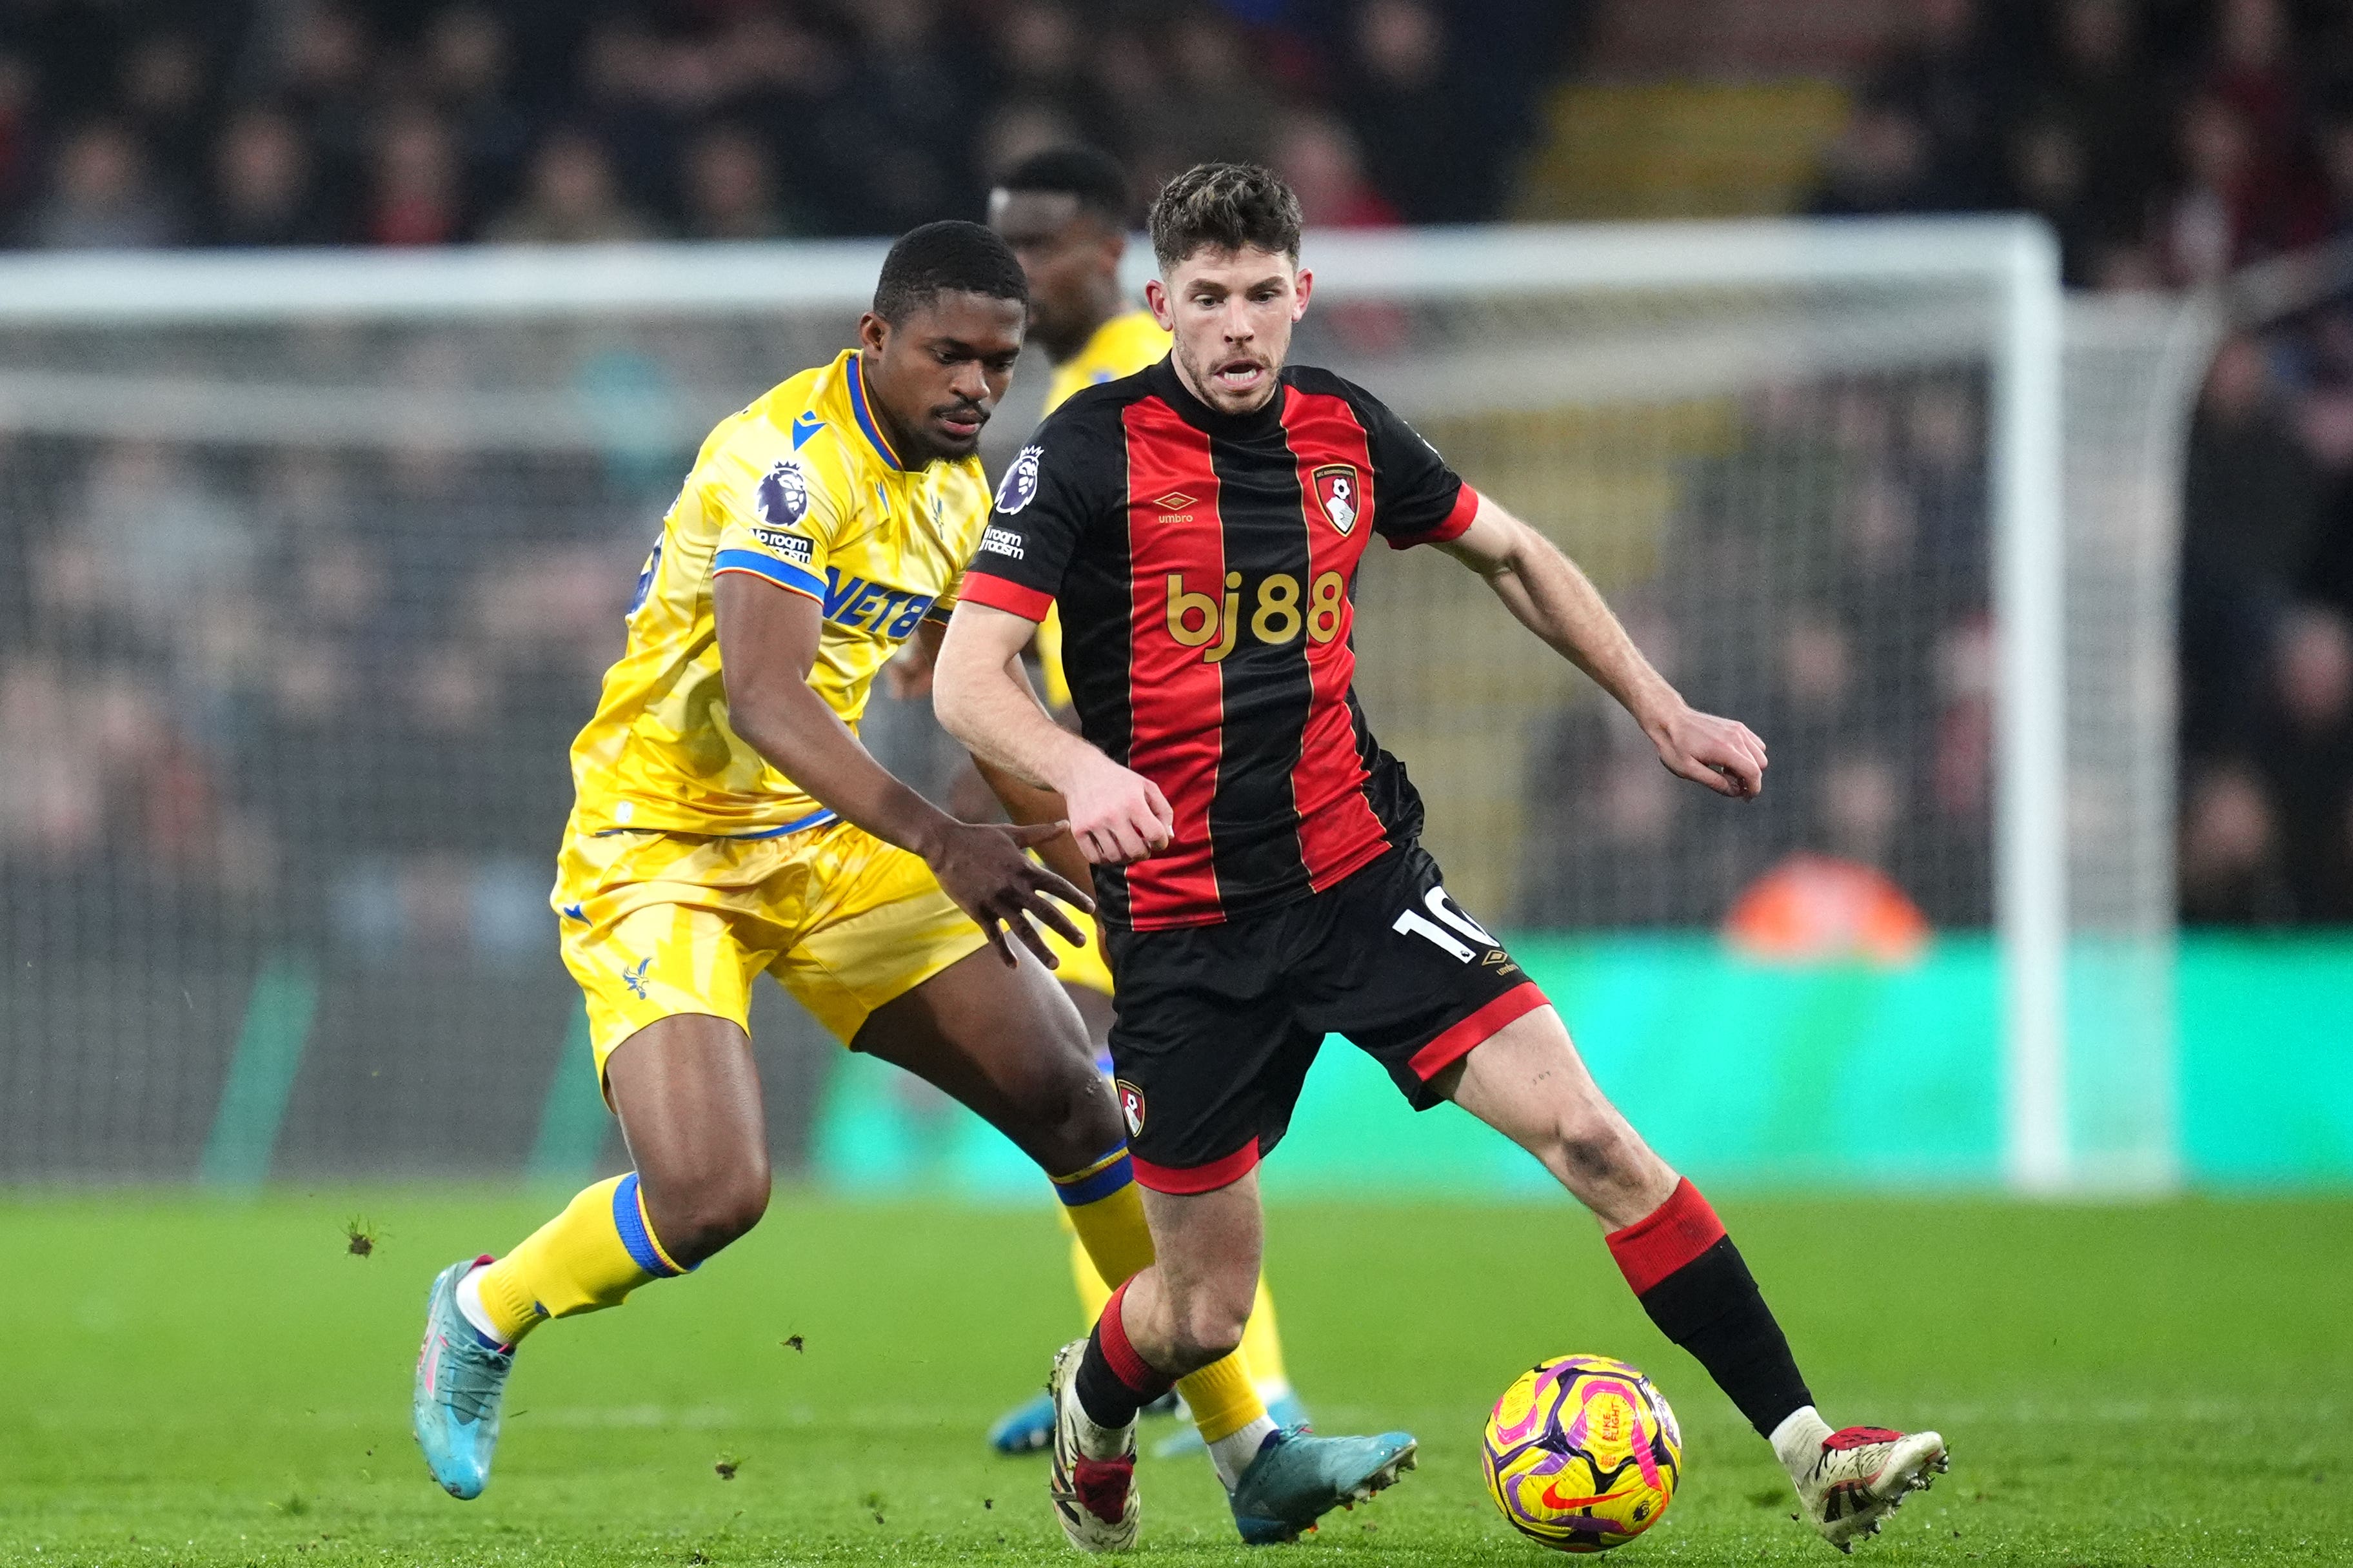
<path id="1" fill-rule="evenodd" d="M 2353 235 L 2353 7 L 1915 0 L 1814 209 L 2040 212 L 2068 282 L 2198 287 Z M 2353 308 L 2214 360 L 2181 571 L 2181 910 L 2353 919 Z"/>

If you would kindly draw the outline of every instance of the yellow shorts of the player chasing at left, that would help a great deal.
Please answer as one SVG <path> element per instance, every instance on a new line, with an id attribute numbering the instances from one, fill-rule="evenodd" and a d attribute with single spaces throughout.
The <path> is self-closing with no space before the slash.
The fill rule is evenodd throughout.
<path id="1" fill-rule="evenodd" d="M 776 839 L 574 832 L 551 903 L 600 1081 L 659 1018 L 748 1027 L 762 969 L 849 1044 L 878 1006 L 986 945 L 918 856 L 849 823 Z"/>

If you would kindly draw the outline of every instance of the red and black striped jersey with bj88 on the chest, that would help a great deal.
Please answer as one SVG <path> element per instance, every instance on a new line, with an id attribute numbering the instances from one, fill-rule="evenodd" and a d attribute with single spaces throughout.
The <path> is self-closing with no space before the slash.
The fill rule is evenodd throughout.
<path id="1" fill-rule="evenodd" d="M 1096 867 L 1108 922 L 1268 910 L 1421 832 L 1353 691 L 1355 567 L 1374 534 L 1402 550 L 1475 512 L 1428 442 L 1322 369 L 1228 416 L 1160 360 L 1040 425 L 962 597 L 1031 621 L 1061 604 L 1080 729 L 1176 813 L 1165 851 Z"/>

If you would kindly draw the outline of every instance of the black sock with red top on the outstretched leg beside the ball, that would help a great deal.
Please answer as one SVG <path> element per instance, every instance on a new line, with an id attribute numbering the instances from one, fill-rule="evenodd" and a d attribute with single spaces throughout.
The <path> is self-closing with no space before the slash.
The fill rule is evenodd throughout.
<path id="1" fill-rule="evenodd" d="M 1692 1182 L 1612 1232 L 1609 1253 L 1659 1333 L 1692 1352 L 1762 1436 L 1814 1403 L 1741 1248 Z"/>

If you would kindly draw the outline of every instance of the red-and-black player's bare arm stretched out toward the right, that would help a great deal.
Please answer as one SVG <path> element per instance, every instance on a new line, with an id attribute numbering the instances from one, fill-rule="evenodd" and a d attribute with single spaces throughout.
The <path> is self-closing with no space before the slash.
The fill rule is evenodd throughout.
<path id="1" fill-rule="evenodd" d="M 1765 788 L 1765 743 L 1739 719 L 1685 703 L 1633 646 L 1600 590 L 1544 534 L 1480 496 L 1478 517 L 1440 550 L 1478 571 L 1520 625 L 1614 696 L 1671 773 L 1732 797 Z"/>

